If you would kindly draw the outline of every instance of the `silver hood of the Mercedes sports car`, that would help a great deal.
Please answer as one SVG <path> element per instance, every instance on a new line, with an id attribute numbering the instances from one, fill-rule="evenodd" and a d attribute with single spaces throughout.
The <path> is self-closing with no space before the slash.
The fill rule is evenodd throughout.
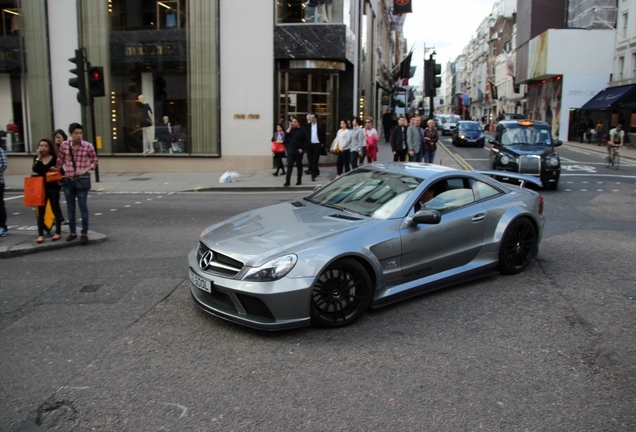
<path id="1" fill-rule="evenodd" d="M 326 239 L 375 221 L 298 200 L 234 216 L 206 229 L 201 241 L 254 266 L 285 253 L 319 246 Z"/>

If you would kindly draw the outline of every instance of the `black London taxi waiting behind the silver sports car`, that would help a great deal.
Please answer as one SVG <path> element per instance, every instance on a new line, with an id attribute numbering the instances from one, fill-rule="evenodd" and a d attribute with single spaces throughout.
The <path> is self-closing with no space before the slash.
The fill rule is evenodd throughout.
<path id="1" fill-rule="evenodd" d="M 492 169 L 533 175 L 541 179 L 543 187 L 557 189 L 561 160 L 554 148 L 563 143 L 552 139 L 548 123 L 504 120 L 488 142 Z"/>

